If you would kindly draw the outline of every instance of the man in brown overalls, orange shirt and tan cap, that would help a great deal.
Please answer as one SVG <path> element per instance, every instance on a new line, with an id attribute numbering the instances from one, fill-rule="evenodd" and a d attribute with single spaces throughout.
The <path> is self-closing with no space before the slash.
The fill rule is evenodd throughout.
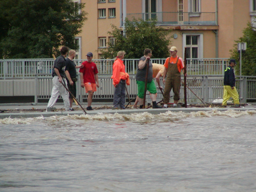
<path id="1" fill-rule="evenodd" d="M 177 107 L 177 103 L 180 100 L 180 88 L 181 88 L 181 70 L 184 74 L 184 62 L 183 59 L 177 56 L 177 48 L 171 47 L 169 50 L 171 57 L 168 57 L 165 61 L 165 71 L 163 72 L 163 84 L 165 84 L 165 92 L 163 94 L 164 107 L 168 108 L 170 100 L 170 91 L 174 93 L 173 107 Z M 165 80 L 166 74 L 167 78 Z M 187 74 L 185 74 L 187 76 Z"/>

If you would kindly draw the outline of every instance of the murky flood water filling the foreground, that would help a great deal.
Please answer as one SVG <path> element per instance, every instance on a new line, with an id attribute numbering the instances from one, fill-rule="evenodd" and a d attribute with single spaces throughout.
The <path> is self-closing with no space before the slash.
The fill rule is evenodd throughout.
<path id="1" fill-rule="evenodd" d="M 256 110 L 0 119 L 0 191 L 256 191 Z"/>

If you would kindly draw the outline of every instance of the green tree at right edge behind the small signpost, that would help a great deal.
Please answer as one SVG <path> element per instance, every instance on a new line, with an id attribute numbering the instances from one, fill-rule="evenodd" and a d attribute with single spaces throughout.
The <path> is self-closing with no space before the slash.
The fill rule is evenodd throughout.
<path id="1" fill-rule="evenodd" d="M 247 43 L 247 48 L 242 52 L 242 75 L 256 75 L 256 27 L 248 23 L 243 30 L 243 36 L 236 43 Z M 236 59 L 236 74 L 240 74 L 240 53 L 237 51 L 237 44 L 230 50 L 231 58 Z"/>

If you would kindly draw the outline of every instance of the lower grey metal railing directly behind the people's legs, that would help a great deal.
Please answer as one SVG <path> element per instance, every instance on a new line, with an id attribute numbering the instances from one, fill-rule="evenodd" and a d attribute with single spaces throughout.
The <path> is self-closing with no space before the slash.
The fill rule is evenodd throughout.
<path id="1" fill-rule="evenodd" d="M 79 102 L 85 102 L 87 94 L 83 88 L 80 87 L 80 79 L 77 82 L 77 98 Z M 110 75 L 99 76 L 99 88 L 94 93 L 94 102 L 97 101 L 113 101 L 114 86 Z M 40 99 L 49 99 L 53 87 L 51 76 L 35 76 L 35 95 L 34 102 L 37 103 Z M 183 81 L 183 78 L 182 78 Z M 155 82 L 156 83 L 156 82 Z M 162 78 L 160 83 L 163 86 Z M 213 102 L 215 99 L 223 98 L 223 75 L 194 75 L 187 77 L 187 86 L 204 102 Z M 156 84 L 157 86 L 157 84 Z M 256 76 L 238 76 L 236 81 L 236 88 L 240 96 L 240 102 L 256 99 Z M 135 75 L 130 76 L 130 86 L 127 86 L 130 99 L 137 97 L 137 84 Z M 201 103 L 196 95 L 187 89 L 187 101 L 189 103 Z M 170 92 L 170 102 L 173 102 L 173 91 Z M 157 101 L 162 99 L 162 93 L 158 90 Z M 180 102 L 184 103 L 184 86 L 181 84 Z M 147 92 L 146 102 L 151 102 L 150 95 Z"/>

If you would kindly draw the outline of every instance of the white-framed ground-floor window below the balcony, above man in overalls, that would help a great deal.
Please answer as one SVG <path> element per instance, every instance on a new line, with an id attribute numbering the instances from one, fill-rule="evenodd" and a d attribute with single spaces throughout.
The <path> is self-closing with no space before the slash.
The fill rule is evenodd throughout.
<path id="1" fill-rule="evenodd" d="M 187 47 L 187 59 L 203 57 L 203 34 L 183 34 L 183 47 Z"/>

